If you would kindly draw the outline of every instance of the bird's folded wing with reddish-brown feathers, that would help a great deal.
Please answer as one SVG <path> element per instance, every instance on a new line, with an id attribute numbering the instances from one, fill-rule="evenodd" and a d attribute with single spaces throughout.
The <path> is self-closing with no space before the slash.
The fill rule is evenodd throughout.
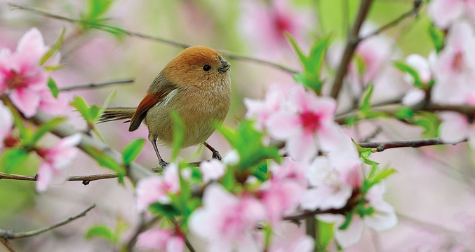
<path id="1" fill-rule="evenodd" d="M 147 94 L 145 94 L 142 102 L 138 104 L 137 110 L 135 110 L 135 113 L 133 113 L 131 118 L 131 125 L 128 127 L 128 131 L 131 132 L 137 130 L 140 123 L 142 123 L 142 120 L 147 116 L 147 111 L 155 104 L 163 101 L 170 92 L 176 89 L 176 86 L 172 83 L 160 80 L 163 80 L 163 78 L 155 78 L 154 83 L 147 91 Z M 161 83 L 157 83 L 157 81 L 160 81 Z"/>

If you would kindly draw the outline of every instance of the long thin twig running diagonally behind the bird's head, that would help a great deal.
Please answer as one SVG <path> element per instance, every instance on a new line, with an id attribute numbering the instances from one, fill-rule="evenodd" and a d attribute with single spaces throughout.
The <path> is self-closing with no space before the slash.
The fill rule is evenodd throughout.
<path id="1" fill-rule="evenodd" d="M 179 48 L 189 48 L 190 46 L 194 45 L 194 44 L 191 44 L 191 43 L 185 43 L 185 42 L 182 42 L 182 41 L 175 41 L 173 39 L 163 38 L 163 37 L 160 37 L 160 36 L 152 36 L 152 35 L 149 35 L 149 34 L 138 32 L 138 31 L 131 31 L 131 30 L 128 30 L 128 29 L 122 29 L 122 28 L 112 27 L 112 26 L 108 26 L 108 25 L 107 26 L 100 26 L 100 25 L 93 24 L 93 23 L 89 24 L 88 22 L 86 22 L 86 20 L 76 20 L 74 18 L 67 18 L 67 17 L 62 16 L 62 15 L 55 15 L 53 13 L 48 13 L 45 10 L 39 10 L 38 8 L 23 6 L 23 5 L 19 5 L 19 4 L 16 4 L 16 3 L 8 3 L 8 4 L 9 4 L 9 6 L 11 6 L 11 8 L 17 8 L 17 9 L 20 9 L 20 10 L 27 10 L 31 13 L 35 13 L 37 15 L 41 15 L 41 16 L 44 16 L 46 18 L 53 18 L 53 19 L 56 19 L 56 20 L 72 22 L 72 23 L 76 23 L 76 24 L 80 24 L 80 25 L 89 25 L 93 29 L 99 29 L 99 30 L 102 30 L 102 31 L 110 31 L 111 29 L 113 29 L 114 31 L 120 32 L 122 34 L 126 34 L 128 36 L 133 36 L 133 37 L 137 37 L 137 38 L 145 38 L 145 39 L 148 39 L 148 40 L 151 40 L 151 41 L 158 41 L 160 43 L 173 45 L 173 46 L 176 46 L 176 47 L 179 47 Z M 245 60 L 245 61 L 248 61 L 248 62 L 255 62 L 257 64 L 264 64 L 264 65 L 272 66 L 276 69 L 280 69 L 282 71 L 286 71 L 286 72 L 292 73 L 292 74 L 298 72 L 294 69 L 288 68 L 287 66 L 283 66 L 281 64 L 277 64 L 277 63 L 274 63 L 274 62 L 268 62 L 268 61 L 263 60 L 263 59 L 257 59 L 257 58 L 254 58 L 254 57 L 238 55 L 238 54 L 235 54 L 233 52 L 229 52 L 227 50 L 218 50 L 218 52 L 220 52 L 222 55 L 225 55 L 226 57 L 229 57 L 230 59 Z"/>

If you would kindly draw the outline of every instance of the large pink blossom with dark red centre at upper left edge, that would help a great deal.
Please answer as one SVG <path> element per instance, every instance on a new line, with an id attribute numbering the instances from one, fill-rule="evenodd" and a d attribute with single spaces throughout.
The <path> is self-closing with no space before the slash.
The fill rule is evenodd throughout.
<path id="1" fill-rule="evenodd" d="M 9 92 L 13 104 L 26 117 L 34 116 L 41 103 L 40 92 L 48 90 L 48 73 L 39 65 L 47 51 L 43 36 L 36 28 L 20 39 L 15 52 L 8 48 L 0 50 L 0 93 Z M 58 62 L 59 55 L 51 58 L 48 64 Z"/>

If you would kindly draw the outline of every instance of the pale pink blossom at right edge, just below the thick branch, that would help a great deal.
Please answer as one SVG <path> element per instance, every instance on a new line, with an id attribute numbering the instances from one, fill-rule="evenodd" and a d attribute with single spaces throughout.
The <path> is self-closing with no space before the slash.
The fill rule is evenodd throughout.
<path id="1" fill-rule="evenodd" d="M 456 112 L 441 112 L 440 137 L 447 143 L 458 143 L 464 139 L 469 140 L 472 148 L 475 148 L 475 127 L 467 116 Z"/>

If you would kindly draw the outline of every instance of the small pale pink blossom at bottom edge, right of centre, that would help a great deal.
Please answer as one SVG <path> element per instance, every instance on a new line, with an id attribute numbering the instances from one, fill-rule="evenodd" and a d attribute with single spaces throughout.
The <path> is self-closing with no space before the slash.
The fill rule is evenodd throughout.
<path id="1" fill-rule="evenodd" d="M 270 252 L 310 252 L 314 251 L 314 239 L 305 235 L 303 225 L 282 222 L 279 230 L 273 233 Z"/>

